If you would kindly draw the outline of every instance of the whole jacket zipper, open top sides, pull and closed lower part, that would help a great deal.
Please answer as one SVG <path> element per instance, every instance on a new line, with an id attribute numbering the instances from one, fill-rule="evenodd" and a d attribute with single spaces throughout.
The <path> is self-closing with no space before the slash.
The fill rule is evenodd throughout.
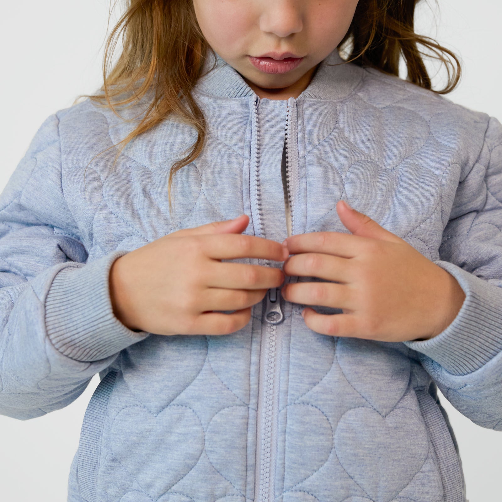
<path id="1" fill-rule="evenodd" d="M 289 98 L 286 112 L 284 162 L 281 165 L 283 176 L 284 203 L 288 236 L 293 229 L 293 196 L 290 151 L 292 108 L 295 99 Z M 260 131 L 258 121 L 258 103 L 260 97 L 254 98 L 255 123 L 255 196 L 257 201 L 257 221 L 255 234 L 264 236 L 262 227 L 262 204 L 260 191 Z M 285 157 L 285 158 L 284 158 Z M 265 260 L 265 265 L 270 265 Z M 264 309 L 265 327 L 262 325 L 262 342 L 260 344 L 260 374 L 257 410 L 257 448 L 255 462 L 255 496 L 256 502 L 268 502 L 275 499 L 275 468 L 277 449 L 277 423 L 279 414 L 279 377 L 282 354 L 282 332 L 279 324 L 284 321 L 281 308 L 280 288 L 270 288 L 266 294 Z"/>

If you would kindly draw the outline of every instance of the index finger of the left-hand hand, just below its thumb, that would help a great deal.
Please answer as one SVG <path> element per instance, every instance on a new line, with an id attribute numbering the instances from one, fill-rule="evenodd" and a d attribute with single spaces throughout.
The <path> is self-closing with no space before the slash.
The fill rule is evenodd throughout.
<path id="1" fill-rule="evenodd" d="M 263 258 L 284 262 L 289 256 L 288 249 L 280 242 L 255 235 L 221 233 L 203 235 L 201 239 L 205 255 L 216 260 Z"/>

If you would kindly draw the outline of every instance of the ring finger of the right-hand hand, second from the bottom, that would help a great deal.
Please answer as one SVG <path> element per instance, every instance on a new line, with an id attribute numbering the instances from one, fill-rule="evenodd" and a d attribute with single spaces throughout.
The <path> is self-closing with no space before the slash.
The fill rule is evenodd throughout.
<path id="1" fill-rule="evenodd" d="M 354 310 L 355 303 L 350 288 L 343 284 L 325 282 L 290 283 L 283 286 L 285 300 L 305 305 L 322 305 L 338 309 Z"/>

